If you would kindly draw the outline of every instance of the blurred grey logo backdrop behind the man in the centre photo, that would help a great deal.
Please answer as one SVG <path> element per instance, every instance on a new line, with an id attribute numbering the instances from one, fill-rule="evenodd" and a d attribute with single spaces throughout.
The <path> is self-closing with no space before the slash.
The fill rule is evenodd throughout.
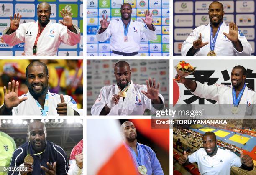
<path id="1" fill-rule="evenodd" d="M 127 60 L 125 60 L 127 61 Z M 87 115 L 103 86 L 116 84 L 114 66 L 118 60 L 87 60 Z M 146 84 L 149 77 L 160 82 L 165 104 L 169 104 L 169 60 L 128 60 L 134 84 Z"/>

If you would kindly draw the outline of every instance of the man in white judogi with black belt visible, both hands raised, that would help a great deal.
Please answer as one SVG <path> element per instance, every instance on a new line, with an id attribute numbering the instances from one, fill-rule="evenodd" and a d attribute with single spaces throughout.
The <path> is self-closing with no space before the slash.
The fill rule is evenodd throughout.
<path id="1" fill-rule="evenodd" d="M 108 15 L 100 21 L 101 28 L 97 31 L 97 41 L 104 42 L 110 36 L 111 56 L 137 56 L 141 38 L 156 39 L 156 28 L 152 24 L 152 13 L 146 11 L 146 24 L 131 20 L 132 7 L 128 3 L 121 6 L 122 18 L 108 22 Z"/>

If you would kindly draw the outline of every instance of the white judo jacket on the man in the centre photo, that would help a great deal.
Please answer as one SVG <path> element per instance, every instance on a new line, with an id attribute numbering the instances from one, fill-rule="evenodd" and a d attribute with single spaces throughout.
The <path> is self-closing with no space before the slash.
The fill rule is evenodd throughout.
<path id="1" fill-rule="evenodd" d="M 141 91 L 147 91 L 146 85 L 133 84 L 131 81 L 127 91 L 127 97 L 120 98 L 118 104 L 111 108 L 108 115 L 143 115 L 146 109 L 149 109 L 154 114 L 157 109 L 151 104 L 151 99 L 148 99 Z M 104 86 L 100 89 L 100 95 L 92 106 L 92 115 L 100 115 L 100 112 L 110 101 L 112 95 L 120 92 L 118 85 Z M 158 94 L 164 103 L 164 97 Z"/>

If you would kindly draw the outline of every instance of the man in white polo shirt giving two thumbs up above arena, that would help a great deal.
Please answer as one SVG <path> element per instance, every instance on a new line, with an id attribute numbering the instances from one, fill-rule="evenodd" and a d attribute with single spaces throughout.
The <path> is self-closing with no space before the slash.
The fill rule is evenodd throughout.
<path id="1" fill-rule="evenodd" d="M 210 175 L 230 175 L 232 166 L 240 167 L 244 170 L 253 170 L 253 161 L 249 155 L 240 157 L 230 150 L 223 150 L 217 147 L 216 135 L 213 132 L 205 132 L 202 137 L 203 148 L 200 148 L 191 155 L 181 155 L 179 164 L 189 164 L 197 162 L 200 174 Z"/>

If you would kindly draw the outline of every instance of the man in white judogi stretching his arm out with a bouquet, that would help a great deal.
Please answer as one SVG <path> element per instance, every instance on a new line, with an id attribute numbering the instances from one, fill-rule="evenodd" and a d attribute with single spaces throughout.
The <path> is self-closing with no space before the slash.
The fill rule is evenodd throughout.
<path id="1" fill-rule="evenodd" d="M 185 77 L 180 77 L 178 74 L 175 78 L 177 82 L 184 84 L 192 94 L 200 98 L 215 100 L 218 101 L 218 104 L 234 105 L 230 110 L 226 108 L 227 106 L 220 106 L 220 108 L 223 108 L 220 109 L 222 114 L 256 115 L 256 92 L 246 86 L 246 69 L 243 66 L 233 67 L 231 72 L 232 86 L 223 84 L 209 86 L 198 81 L 191 81 Z M 243 110 L 236 108 L 239 104 L 246 104 L 241 105 Z"/>

